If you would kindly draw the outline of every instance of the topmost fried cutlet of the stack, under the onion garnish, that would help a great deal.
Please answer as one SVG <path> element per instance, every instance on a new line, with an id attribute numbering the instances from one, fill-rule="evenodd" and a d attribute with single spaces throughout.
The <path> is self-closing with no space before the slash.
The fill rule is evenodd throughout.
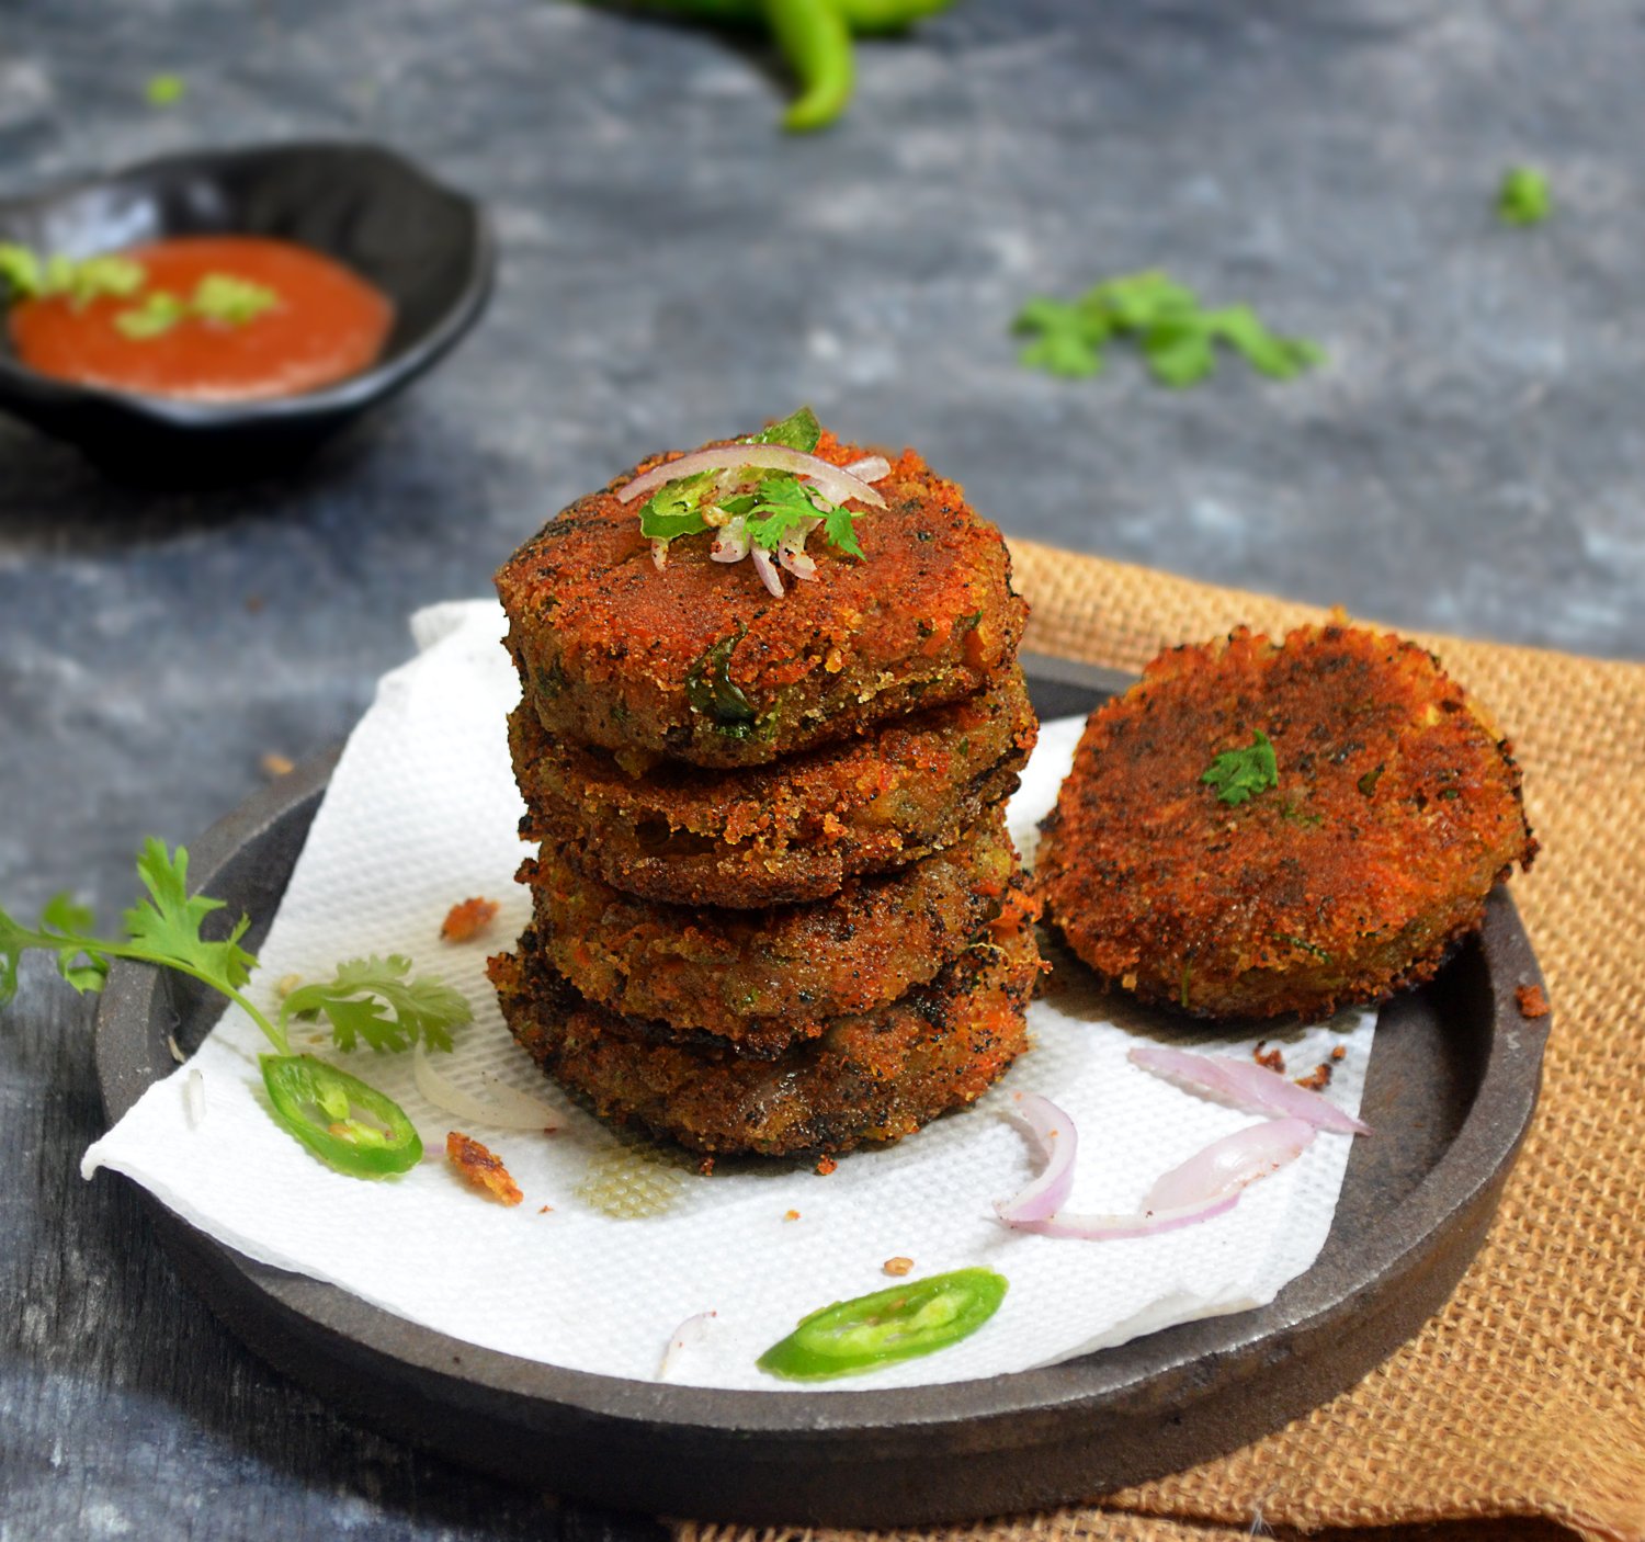
<path id="1" fill-rule="evenodd" d="M 816 454 L 862 451 L 824 433 Z M 887 507 L 855 522 L 862 560 L 814 540 L 816 579 L 781 599 L 750 563 L 712 561 L 707 533 L 673 541 L 658 571 L 617 489 L 661 459 L 579 499 L 497 574 L 525 699 L 556 737 L 763 765 L 969 696 L 1015 657 L 1026 607 L 1005 543 L 913 451 L 875 484 Z"/>

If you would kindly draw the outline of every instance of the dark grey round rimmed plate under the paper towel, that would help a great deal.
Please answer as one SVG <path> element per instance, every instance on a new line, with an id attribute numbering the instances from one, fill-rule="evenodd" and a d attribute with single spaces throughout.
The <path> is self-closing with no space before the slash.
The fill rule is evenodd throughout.
<path id="1" fill-rule="evenodd" d="M 1125 681 L 1025 660 L 1043 716 Z M 334 759 L 283 778 L 192 851 L 206 892 L 266 928 Z M 1512 900 L 1431 986 L 1382 1009 L 1336 1221 L 1268 1307 L 989 1381 L 875 1392 L 724 1392 L 561 1371 L 477 1349 L 317 1280 L 248 1262 L 143 1195 L 179 1272 L 258 1354 L 368 1424 L 472 1466 L 605 1506 L 714 1521 L 915 1526 L 1041 1509 L 1245 1445 L 1385 1359 L 1484 1239 L 1536 1103 L 1548 1019 Z M 186 981 L 181 986 L 188 986 Z M 110 974 L 97 1071 L 118 1119 L 196 1043 L 206 992 Z M 553 1282 L 544 1282 L 553 1289 Z"/>

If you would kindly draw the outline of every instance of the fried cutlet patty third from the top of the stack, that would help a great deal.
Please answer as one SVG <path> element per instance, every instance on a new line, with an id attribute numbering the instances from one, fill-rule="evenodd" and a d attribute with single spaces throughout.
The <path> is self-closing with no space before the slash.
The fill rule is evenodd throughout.
<path id="1" fill-rule="evenodd" d="M 829 1017 L 872 1012 L 931 979 L 1000 915 L 1015 874 L 995 810 L 948 851 L 809 905 L 640 900 L 577 872 L 551 844 L 520 877 L 543 956 L 586 997 L 778 1055 Z"/>

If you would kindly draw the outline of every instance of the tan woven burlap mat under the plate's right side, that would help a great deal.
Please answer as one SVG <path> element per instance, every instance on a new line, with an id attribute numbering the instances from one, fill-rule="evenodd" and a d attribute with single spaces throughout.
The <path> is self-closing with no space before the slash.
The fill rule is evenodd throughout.
<path id="1" fill-rule="evenodd" d="M 1026 541 L 1012 553 L 1033 602 L 1026 647 L 1091 663 L 1138 670 L 1165 643 L 1321 614 Z M 1364 1527 L 1379 1530 L 1355 1542 L 1380 1542 L 1382 1527 L 1456 1522 L 1421 1534 L 1645 1539 L 1645 666 L 1421 640 L 1513 737 L 1543 843 L 1513 894 L 1555 1030 L 1484 1251 L 1411 1343 L 1278 1433 L 1087 1506 L 918 1535 L 1230 1542 Z M 758 1535 L 683 1524 L 678 1542 Z"/>

